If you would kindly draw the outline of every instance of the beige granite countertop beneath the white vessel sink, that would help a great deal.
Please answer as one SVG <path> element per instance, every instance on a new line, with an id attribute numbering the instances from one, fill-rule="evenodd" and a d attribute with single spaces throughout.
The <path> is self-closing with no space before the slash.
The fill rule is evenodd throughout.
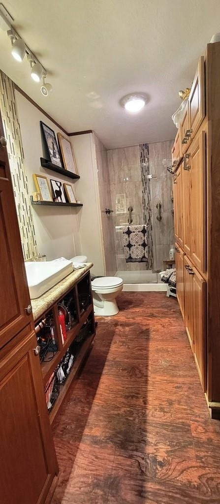
<path id="1" fill-rule="evenodd" d="M 93 267 L 93 263 L 86 263 L 85 268 L 80 268 L 80 270 L 75 270 L 67 277 L 63 278 L 61 282 L 54 285 L 51 289 L 45 292 L 42 296 L 37 299 L 31 299 L 31 305 L 33 310 L 34 321 L 39 319 L 39 317 L 48 310 L 62 295 L 66 293 L 71 287 L 73 287 L 83 275 Z"/>

